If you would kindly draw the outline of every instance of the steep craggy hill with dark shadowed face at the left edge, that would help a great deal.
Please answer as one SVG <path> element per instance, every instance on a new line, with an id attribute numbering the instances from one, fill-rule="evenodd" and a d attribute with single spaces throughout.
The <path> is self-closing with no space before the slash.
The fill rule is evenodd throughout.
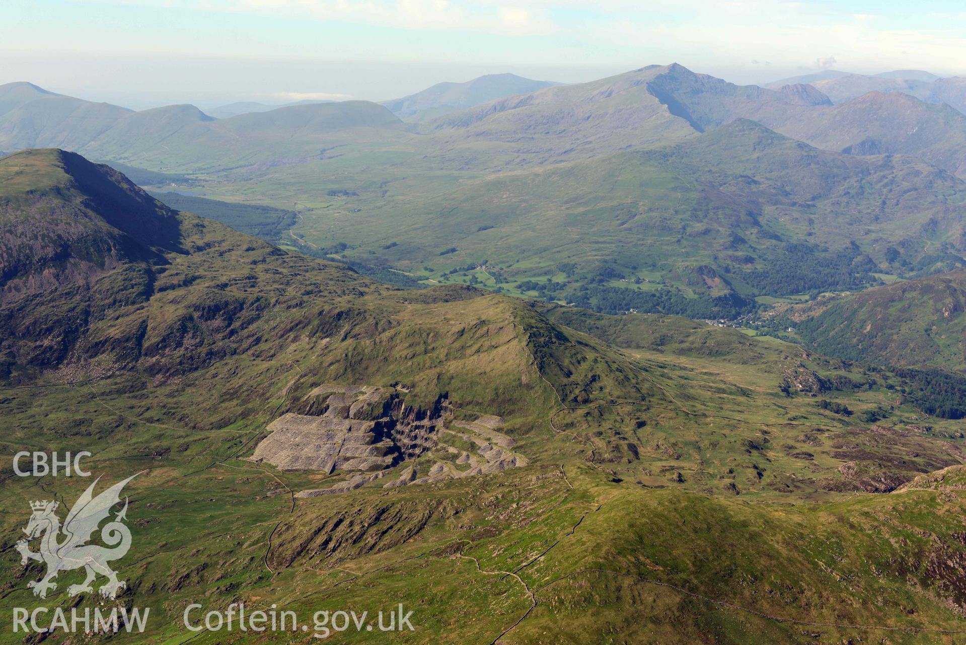
<path id="1" fill-rule="evenodd" d="M 251 349 L 260 322 L 277 324 L 264 319 L 306 295 L 370 284 L 170 210 L 108 166 L 58 150 L 0 159 L 0 213 L 8 375 L 92 360 L 194 369 Z"/>

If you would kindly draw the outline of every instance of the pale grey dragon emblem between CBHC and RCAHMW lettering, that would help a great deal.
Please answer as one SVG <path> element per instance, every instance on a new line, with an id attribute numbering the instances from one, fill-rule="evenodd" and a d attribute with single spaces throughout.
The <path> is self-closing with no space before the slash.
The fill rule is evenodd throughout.
<path id="1" fill-rule="evenodd" d="M 139 474 L 141 473 L 137 473 Z M 30 516 L 27 527 L 23 529 L 27 538 L 17 542 L 15 548 L 20 553 L 20 564 L 26 565 L 30 560 L 37 560 L 47 566 L 43 578 L 27 583 L 34 590 L 35 596 L 46 598 L 48 591 L 57 589 L 57 583 L 53 581 L 57 574 L 81 567 L 87 573 L 87 579 L 82 584 L 71 584 L 67 589 L 68 595 L 94 593 L 91 583 L 98 575 L 107 578 L 107 582 L 99 588 L 102 597 L 114 600 L 124 591 L 128 583 L 119 580 L 117 573 L 107 563 L 123 558 L 130 548 L 130 531 L 124 524 L 128 513 L 127 497 L 124 500 L 124 509 L 100 529 L 101 541 L 112 548 L 88 545 L 87 542 L 94 537 L 100 522 L 110 515 L 111 508 L 121 503 L 122 489 L 137 475 L 128 477 L 95 497 L 94 487 L 100 481 L 98 478 L 74 503 L 63 526 L 56 514 L 60 506 L 57 501 L 30 503 L 34 513 Z M 41 538 L 39 552 L 32 551 L 29 547 L 29 541 L 37 538 Z"/>

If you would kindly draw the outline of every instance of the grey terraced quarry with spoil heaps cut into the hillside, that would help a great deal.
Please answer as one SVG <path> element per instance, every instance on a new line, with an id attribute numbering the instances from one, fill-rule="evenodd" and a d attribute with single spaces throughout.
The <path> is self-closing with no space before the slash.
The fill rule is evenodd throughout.
<path id="1" fill-rule="evenodd" d="M 510 436 L 497 432 L 503 419 L 485 414 L 454 420 L 448 402 L 434 409 L 410 407 L 398 392 L 371 385 L 325 384 L 312 390 L 297 409 L 272 421 L 252 456 L 282 470 L 313 470 L 347 479 L 332 487 L 300 491 L 316 497 L 352 491 L 381 479 L 385 470 L 433 454 L 440 459 L 426 475 L 410 464 L 384 488 L 489 474 L 526 465 Z M 456 446 L 452 444 L 458 444 Z M 467 447 L 475 448 L 475 454 Z"/>

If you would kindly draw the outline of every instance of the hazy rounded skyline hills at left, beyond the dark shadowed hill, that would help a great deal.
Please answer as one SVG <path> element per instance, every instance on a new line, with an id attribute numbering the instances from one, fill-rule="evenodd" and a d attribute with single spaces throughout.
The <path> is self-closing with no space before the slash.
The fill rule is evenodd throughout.
<path id="1" fill-rule="evenodd" d="M 165 169 L 169 160 L 204 168 L 225 160 L 277 161 L 293 149 L 319 154 L 345 143 L 333 132 L 400 125 L 383 106 L 369 101 L 301 104 L 215 119 L 193 105 L 132 112 L 29 83 L 0 86 L 0 148 L 61 146 L 151 170 Z"/>

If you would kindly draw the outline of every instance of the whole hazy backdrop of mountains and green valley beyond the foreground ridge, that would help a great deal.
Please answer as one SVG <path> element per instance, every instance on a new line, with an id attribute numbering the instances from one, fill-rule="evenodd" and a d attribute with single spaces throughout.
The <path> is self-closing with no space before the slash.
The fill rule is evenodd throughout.
<path id="1" fill-rule="evenodd" d="M 0 149 L 68 141 L 168 190 L 298 210 L 298 234 L 274 235 L 306 253 L 411 281 L 487 266 L 493 288 L 607 312 L 730 317 L 756 297 L 963 264 L 966 116 L 949 105 L 879 91 L 836 104 L 812 84 L 741 86 L 672 64 L 429 118 L 442 98 L 483 98 L 473 85 L 394 105 L 405 123 L 369 101 L 214 119 L 12 84 Z"/>

